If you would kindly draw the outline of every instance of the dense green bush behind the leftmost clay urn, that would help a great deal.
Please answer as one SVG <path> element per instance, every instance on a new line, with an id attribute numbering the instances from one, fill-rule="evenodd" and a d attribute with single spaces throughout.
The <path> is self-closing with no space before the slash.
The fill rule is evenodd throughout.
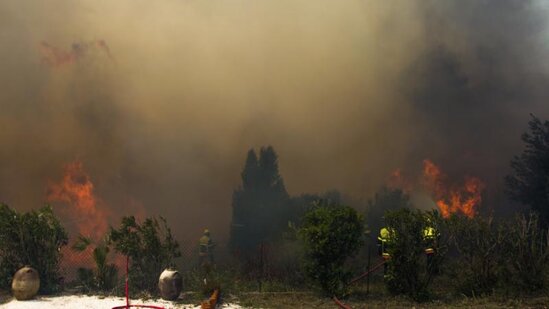
<path id="1" fill-rule="evenodd" d="M 7 289 L 15 272 L 29 265 L 40 276 L 40 293 L 59 289 L 60 249 L 67 233 L 50 206 L 18 213 L 0 204 L 0 288 Z"/>

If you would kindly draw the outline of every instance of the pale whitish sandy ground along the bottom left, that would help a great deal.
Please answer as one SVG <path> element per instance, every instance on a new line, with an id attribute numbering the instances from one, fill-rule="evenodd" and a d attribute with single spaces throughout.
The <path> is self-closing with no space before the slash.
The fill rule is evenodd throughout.
<path id="1" fill-rule="evenodd" d="M 35 299 L 27 301 L 18 301 L 15 298 L 10 302 L 1 304 L 2 309 L 53 309 L 53 308 L 89 308 L 89 309 L 110 309 L 116 306 L 123 306 L 126 300 L 122 297 L 98 297 L 86 295 L 65 295 L 65 296 L 38 296 Z M 145 304 L 162 306 L 166 309 L 172 308 L 200 308 L 193 304 L 175 304 L 162 299 L 157 300 L 130 300 L 130 304 Z M 217 308 L 240 309 L 242 307 L 232 304 L 223 304 Z"/>

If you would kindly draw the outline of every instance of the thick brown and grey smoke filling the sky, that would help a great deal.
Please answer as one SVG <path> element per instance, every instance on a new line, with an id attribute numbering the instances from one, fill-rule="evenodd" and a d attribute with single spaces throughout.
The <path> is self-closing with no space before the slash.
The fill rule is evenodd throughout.
<path id="1" fill-rule="evenodd" d="M 79 160 L 119 214 L 223 238 L 245 154 L 270 144 L 291 194 L 368 198 L 429 158 L 500 207 L 529 113 L 549 118 L 548 16 L 518 0 L 2 1 L 0 200 L 40 206 Z"/>

